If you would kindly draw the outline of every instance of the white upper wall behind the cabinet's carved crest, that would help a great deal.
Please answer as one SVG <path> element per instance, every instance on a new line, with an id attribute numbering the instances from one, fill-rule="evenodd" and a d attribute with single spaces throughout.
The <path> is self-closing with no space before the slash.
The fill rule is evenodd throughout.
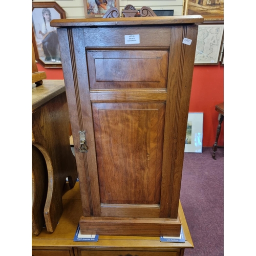
<path id="1" fill-rule="evenodd" d="M 34 0 L 33 3 L 41 2 L 42 0 Z M 44 2 L 53 2 L 45 0 Z M 57 0 L 55 1 L 66 12 L 67 18 L 84 18 L 83 0 Z M 120 0 L 120 13 L 126 5 L 133 5 L 136 9 L 142 6 L 148 6 L 153 10 L 174 10 L 174 15 L 182 15 L 183 0 Z"/>

